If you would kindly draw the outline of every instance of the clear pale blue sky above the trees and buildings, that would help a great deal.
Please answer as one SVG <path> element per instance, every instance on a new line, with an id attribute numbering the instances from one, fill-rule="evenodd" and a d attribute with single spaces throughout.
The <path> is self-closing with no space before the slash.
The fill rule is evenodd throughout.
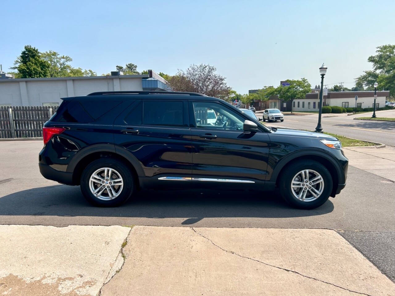
<path id="1" fill-rule="evenodd" d="M 0 64 L 24 45 L 73 58 L 98 75 L 132 62 L 175 74 L 210 64 L 237 92 L 306 77 L 347 82 L 395 43 L 395 1 L 2 1 Z"/>

